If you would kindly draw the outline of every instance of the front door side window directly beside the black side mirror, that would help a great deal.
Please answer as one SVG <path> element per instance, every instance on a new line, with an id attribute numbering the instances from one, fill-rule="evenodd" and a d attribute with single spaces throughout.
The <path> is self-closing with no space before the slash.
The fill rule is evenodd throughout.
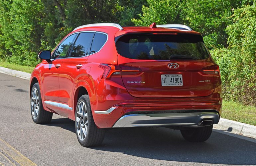
<path id="1" fill-rule="evenodd" d="M 67 37 L 58 47 L 55 58 L 65 58 L 70 46 L 72 45 L 72 42 L 74 40 L 74 37 L 76 34 L 72 34 L 71 36 Z"/>

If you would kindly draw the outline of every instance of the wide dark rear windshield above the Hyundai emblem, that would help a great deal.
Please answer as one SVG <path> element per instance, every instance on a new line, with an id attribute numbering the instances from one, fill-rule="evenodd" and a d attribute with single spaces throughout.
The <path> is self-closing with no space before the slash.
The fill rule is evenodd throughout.
<path id="1" fill-rule="evenodd" d="M 116 37 L 120 55 L 130 59 L 207 59 L 202 36 L 194 34 L 126 34 Z"/>

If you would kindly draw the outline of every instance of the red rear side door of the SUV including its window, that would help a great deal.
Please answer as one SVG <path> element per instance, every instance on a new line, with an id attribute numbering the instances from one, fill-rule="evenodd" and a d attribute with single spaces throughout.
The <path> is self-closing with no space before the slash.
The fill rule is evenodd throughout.
<path id="1" fill-rule="evenodd" d="M 60 69 L 60 101 L 67 104 L 70 108 L 73 106 L 72 98 L 78 78 L 83 73 L 82 67 L 85 64 L 90 52 L 91 42 L 95 32 L 78 33 L 73 46 L 70 49 L 69 57 L 62 62 Z M 66 115 L 64 115 L 66 116 Z"/>

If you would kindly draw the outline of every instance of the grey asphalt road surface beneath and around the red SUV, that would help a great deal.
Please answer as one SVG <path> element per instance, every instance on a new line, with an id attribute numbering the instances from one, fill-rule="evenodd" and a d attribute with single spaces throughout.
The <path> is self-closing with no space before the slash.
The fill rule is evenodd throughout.
<path id="1" fill-rule="evenodd" d="M 18 154 L 37 165 L 256 165 L 256 141 L 216 131 L 191 143 L 167 128 L 111 129 L 102 146 L 82 147 L 67 118 L 54 114 L 50 124 L 35 124 L 29 96 L 28 80 L 0 73 L 2 165 L 19 165 Z"/>

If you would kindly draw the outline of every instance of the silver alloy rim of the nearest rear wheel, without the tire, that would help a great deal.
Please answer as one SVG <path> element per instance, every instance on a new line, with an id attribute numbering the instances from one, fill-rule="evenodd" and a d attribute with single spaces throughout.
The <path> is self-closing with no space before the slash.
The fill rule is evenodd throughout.
<path id="1" fill-rule="evenodd" d="M 80 140 L 84 140 L 88 131 L 88 115 L 83 101 L 78 104 L 76 110 L 76 131 Z"/>

